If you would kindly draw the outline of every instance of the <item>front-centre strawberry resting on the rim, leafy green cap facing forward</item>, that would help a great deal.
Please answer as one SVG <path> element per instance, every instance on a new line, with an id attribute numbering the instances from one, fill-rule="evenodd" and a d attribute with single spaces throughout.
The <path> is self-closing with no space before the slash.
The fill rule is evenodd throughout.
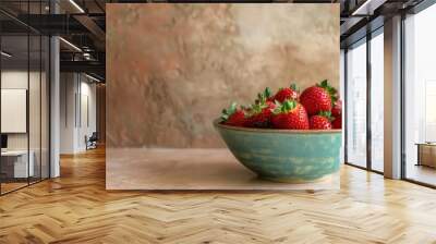
<path id="1" fill-rule="evenodd" d="M 274 110 L 272 126 L 276 129 L 308 130 L 306 110 L 295 100 L 284 100 Z"/>

